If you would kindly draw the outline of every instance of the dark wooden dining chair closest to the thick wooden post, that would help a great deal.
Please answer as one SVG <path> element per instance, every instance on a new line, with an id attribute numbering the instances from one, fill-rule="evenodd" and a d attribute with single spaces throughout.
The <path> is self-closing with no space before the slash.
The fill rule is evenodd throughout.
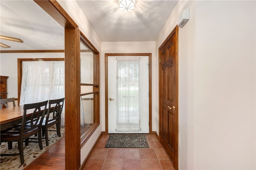
<path id="1" fill-rule="evenodd" d="M 46 141 L 46 146 L 49 145 L 48 141 L 48 131 L 56 131 L 58 136 L 60 137 L 60 121 L 61 121 L 61 113 L 62 109 L 64 106 L 64 100 L 65 98 L 62 99 L 55 99 L 55 100 L 49 100 L 48 102 L 48 111 L 46 118 L 44 118 L 43 123 L 42 123 L 42 136 L 45 135 L 45 141 Z M 49 130 L 49 127 L 52 127 L 53 125 L 56 125 L 56 130 Z"/>

